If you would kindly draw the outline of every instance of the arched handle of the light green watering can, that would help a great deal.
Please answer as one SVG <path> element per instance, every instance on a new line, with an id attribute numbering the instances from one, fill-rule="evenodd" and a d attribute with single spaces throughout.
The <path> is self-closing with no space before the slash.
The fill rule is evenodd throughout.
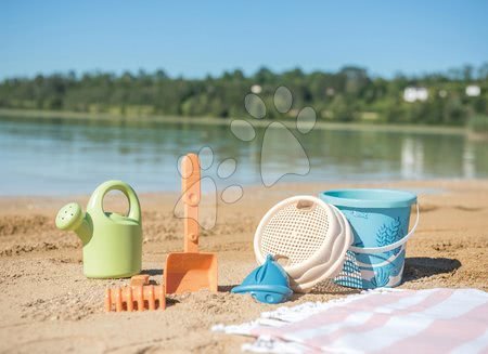
<path id="1" fill-rule="evenodd" d="M 97 187 L 88 201 L 87 210 L 91 212 L 103 212 L 103 198 L 111 191 L 120 191 L 129 200 L 128 218 L 141 222 L 141 207 L 138 196 L 130 185 L 123 181 L 107 181 Z"/>

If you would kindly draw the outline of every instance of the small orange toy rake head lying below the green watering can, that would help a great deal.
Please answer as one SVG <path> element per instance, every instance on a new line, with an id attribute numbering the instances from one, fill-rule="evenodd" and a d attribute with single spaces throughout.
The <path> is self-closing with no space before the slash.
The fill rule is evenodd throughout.
<path id="1" fill-rule="evenodd" d="M 149 285 L 149 276 L 134 276 L 130 286 L 105 291 L 105 311 L 165 310 L 166 293 L 164 285 Z"/>

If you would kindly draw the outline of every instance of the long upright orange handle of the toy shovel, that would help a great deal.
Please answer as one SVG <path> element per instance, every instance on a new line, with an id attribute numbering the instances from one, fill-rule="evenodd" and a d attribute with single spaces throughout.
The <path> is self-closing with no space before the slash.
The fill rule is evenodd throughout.
<path id="1" fill-rule="evenodd" d="M 184 251 L 198 252 L 198 204 L 201 198 L 200 160 L 188 154 L 181 161 L 181 193 L 184 208 Z"/>

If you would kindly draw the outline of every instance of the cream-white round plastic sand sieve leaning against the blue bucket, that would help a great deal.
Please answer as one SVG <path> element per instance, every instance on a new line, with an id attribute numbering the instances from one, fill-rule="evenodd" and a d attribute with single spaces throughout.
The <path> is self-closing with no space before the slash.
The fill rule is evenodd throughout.
<path id="1" fill-rule="evenodd" d="M 333 278 L 344 264 L 352 236 L 338 209 L 312 196 L 280 201 L 262 218 L 254 236 L 259 264 L 268 254 L 282 264 L 295 291 L 304 292 Z"/>

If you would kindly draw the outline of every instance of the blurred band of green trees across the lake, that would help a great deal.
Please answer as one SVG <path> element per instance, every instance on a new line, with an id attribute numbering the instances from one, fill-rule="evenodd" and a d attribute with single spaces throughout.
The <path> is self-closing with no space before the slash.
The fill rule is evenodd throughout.
<path id="1" fill-rule="evenodd" d="M 280 86 L 293 93 L 290 118 L 304 106 L 313 107 L 323 121 L 462 126 L 471 117 L 488 116 L 488 63 L 393 78 L 373 76 L 356 66 L 336 73 L 304 73 L 299 68 L 273 73 L 262 67 L 249 76 L 236 69 L 202 79 L 171 78 L 162 69 L 120 75 L 69 71 L 4 79 L 0 82 L 0 107 L 104 113 L 134 119 L 144 115 L 242 117 L 246 115 L 244 97 L 253 88 L 267 104 L 267 117 L 275 119 L 283 117 L 272 105 Z M 467 86 L 479 87 L 480 93 L 467 95 Z M 407 102 L 406 88 L 425 88 L 428 96 Z"/>

